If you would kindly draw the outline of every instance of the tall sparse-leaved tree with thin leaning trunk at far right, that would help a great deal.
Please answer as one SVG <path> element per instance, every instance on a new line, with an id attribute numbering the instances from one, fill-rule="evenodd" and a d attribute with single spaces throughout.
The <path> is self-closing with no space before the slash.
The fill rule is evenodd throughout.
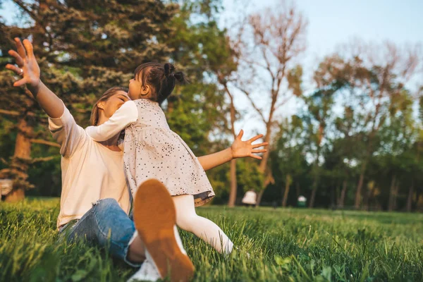
<path id="1" fill-rule="evenodd" d="M 350 134 L 361 137 L 365 145 L 355 156 L 360 166 L 355 192 L 355 207 L 359 208 L 364 177 L 380 145 L 377 133 L 387 121 L 391 99 L 403 92 L 417 73 L 419 56 L 417 47 L 400 49 L 389 42 L 380 45 L 353 42 L 346 45 L 340 57 L 344 61 L 341 79 L 348 83 L 349 90 L 343 92 L 343 106 L 352 109 L 350 113 L 354 115 Z"/>

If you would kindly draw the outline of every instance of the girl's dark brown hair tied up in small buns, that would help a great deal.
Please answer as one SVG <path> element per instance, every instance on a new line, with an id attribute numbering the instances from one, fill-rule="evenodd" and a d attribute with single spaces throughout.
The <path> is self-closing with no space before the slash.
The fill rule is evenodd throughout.
<path id="1" fill-rule="evenodd" d="M 163 103 L 172 94 L 176 81 L 187 82 L 185 75 L 171 63 L 142 63 L 135 70 L 135 79 L 152 88 L 152 100 Z"/>

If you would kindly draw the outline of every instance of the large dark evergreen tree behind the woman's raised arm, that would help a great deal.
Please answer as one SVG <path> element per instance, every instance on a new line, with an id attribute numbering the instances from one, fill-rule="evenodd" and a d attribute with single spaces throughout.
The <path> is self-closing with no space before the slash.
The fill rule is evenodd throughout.
<path id="1" fill-rule="evenodd" d="M 13 48 L 13 37 L 32 38 L 42 80 L 79 113 L 75 118 L 85 121 L 81 125 L 87 125 L 87 108 L 99 90 L 127 84 L 138 64 L 152 58 L 162 61 L 171 51 L 164 39 L 172 34 L 168 22 L 178 11 L 176 4 L 147 0 L 13 2 L 25 25 L 1 23 L 1 62 L 11 62 L 7 50 Z M 51 141 L 45 127 L 35 130 L 35 125 L 45 124 L 47 117 L 30 92 L 16 89 L 12 80 L 11 73 L 1 71 L 0 114 L 16 118 L 18 132 L 14 154 L 1 177 L 13 178 L 9 200 L 18 200 L 32 188 L 27 181 L 29 166 L 51 159 L 32 158 L 32 144 L 58 145 Z"/>

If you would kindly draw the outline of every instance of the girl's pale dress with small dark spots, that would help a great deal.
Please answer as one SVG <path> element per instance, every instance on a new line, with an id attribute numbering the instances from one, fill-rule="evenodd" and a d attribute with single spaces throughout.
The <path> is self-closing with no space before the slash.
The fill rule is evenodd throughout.
<path id="1" fill-rule="evenodd" d="M 135 194 L 149 178 L 160 180 L 172 196 L 193 195 L 195 206 L 214 197 L 204 169 L 186 143 L 168 126 L 157 102 L 134 101 L 138 118 L 125 129 L 123 161 L 128 185 Z"/>

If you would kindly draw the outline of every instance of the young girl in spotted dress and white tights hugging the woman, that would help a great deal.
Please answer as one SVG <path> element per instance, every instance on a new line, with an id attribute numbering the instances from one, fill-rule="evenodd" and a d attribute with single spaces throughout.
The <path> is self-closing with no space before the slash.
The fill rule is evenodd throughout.
<path id="1" fill-rule="evenodd" d="M 125 102 L 106 123 L 87 128 L 87 133 L 101 142 L 126 128 L 123 159 L 132 194 L 145 180 L 157 178 L 173 196 L 177 225 L 202 238 L 218 252 L 228 254 L 233 248 L 228 236 L 215 223 L 195 213 L 195 207 L 214 197 L 212 185 L 188 145 L 169 128 L 160 107 L 176 81 L 185 82 L 183 73 L 174 70 L 171 63 L 138 66 L 135 78 L 129 83 L 128 96 L 133 101 Z M 252 145 L 252 148 L 263 145 Z"/>

